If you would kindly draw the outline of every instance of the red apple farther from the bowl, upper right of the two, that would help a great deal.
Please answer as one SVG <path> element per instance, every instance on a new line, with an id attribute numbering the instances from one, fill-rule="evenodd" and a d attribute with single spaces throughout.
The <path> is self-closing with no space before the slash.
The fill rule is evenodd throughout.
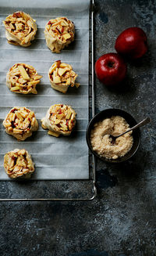
<path id="1" fill-rule="evenodd" d="M 147 52 L 147 36 L 140 27 L 129 27 L 115 41 L 115 50 L 131 59 L 137 59 Z"/>

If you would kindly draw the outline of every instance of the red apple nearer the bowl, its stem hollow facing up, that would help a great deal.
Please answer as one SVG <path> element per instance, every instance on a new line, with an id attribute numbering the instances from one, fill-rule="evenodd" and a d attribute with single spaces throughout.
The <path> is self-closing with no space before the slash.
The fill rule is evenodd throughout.
<path id="1" fill-rule="evenodd" d="M 95 73 L 103 84 L 116 85 L 126 76 L 126 63 L 118 53 L 107 53 L 97 59 Z"/>

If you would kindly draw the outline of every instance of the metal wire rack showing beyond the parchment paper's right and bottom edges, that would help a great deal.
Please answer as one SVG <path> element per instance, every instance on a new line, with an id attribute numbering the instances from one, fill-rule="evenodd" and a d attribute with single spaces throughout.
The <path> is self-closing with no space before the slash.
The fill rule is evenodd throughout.
<path id="1" fill-rule="evenodd" d="M 89 116 L 94 116 L 94 0 L 90 1 L 89 54 Z M 95 186 L 95 158 L 89 157 L 89 179 L 1 181 L 1 201 L 93 200 Z"/>

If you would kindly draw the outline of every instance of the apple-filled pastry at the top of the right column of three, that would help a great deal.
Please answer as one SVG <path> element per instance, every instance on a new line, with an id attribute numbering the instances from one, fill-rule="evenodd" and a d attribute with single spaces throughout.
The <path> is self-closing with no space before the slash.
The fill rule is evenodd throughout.
<path id="1" fill-rule="evenodd" d="M 66 17 L 51 19 L 45 25 L 44 35 L 51 52 L 61 52 L 74 40 L 75 27 Z"/>

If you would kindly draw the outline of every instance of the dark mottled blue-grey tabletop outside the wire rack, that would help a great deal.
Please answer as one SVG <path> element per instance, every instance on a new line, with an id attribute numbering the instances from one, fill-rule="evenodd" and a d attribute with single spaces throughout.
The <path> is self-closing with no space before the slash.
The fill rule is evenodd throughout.
<path id="1" fill-rule="evenodd" d="M 140 150 L 125 164 L 97 160 L 97 199 L 87 203 L 1 203 L 0 255 L 154 256 L 155 224 L 155 1 L 96 1 L 95 56 L 115 52 L 126 27 L 147 32 L 149 51 L 128 64 L 122 88 L 96 79 L 96 112 L 127 110 L 140 121 Z"/>

